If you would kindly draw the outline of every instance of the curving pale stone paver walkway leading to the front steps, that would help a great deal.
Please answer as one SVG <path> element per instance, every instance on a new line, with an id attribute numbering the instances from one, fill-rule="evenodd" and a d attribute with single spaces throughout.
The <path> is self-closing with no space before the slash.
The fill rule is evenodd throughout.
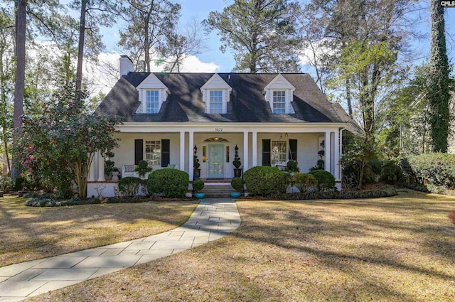
<path id="1" fill-rule="evenodd" d="M 0 302 L 21 301 L 220 239 L 240 226 L 231 198 L 207 198 L 188 222 L 153 236 L 0 267 Z"/>

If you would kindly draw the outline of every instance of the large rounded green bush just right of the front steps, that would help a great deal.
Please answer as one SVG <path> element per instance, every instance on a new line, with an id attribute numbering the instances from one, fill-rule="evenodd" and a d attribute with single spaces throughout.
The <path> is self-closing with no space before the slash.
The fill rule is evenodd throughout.
<path id="1" fill-rule="evenodd" d="M 283 171 L 276 167 L 257 166 L 245 171 L 245 183 L 251 195 L 266 196 L 285 192 L 288 185 Z"/>

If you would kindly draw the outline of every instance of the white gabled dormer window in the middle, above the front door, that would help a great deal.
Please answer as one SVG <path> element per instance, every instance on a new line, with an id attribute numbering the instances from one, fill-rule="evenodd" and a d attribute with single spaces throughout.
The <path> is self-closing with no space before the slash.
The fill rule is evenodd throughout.
<path id="1" fill-rule="evenodd" d="M 202 99 L 205 102 L 205 113 L 223 114 L 228 112 L 229 94 L 231 91 L 232 88 L 218 73 L 210 77 L 203 87 L 200 87 Z"/>

